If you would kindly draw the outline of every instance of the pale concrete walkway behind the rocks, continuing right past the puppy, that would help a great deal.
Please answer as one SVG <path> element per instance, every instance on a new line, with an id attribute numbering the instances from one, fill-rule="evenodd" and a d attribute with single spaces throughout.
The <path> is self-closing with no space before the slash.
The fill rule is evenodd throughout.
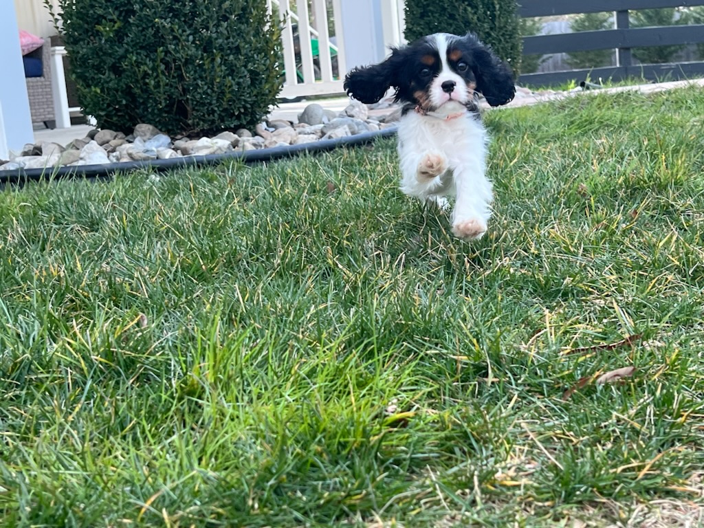
<path id="1" fill-rule="evenodd" d="M 506 105 L 504 108 L 526 106 L 530 104 L 542 103 L 545 101 L 556 101 L 559 99 L 565 99 L 565 97 L 578 96 L 580 94 L 614 94 L 619 92 L 640 92 L 643 94 L 649 94 L 653 92 L 662 92 L 663 90 L 683 88 L 687 86 L 704 87 L 704 79 L 659 82 L 654 84 L 637 84 L 634 86 L 624 86 L 586 91 L 582 91 L 581 89 L 579 89 L 572 92 L 553 92 L 550 90 L 543 92 L 532 92 L 529 89 L 519 88 L 517 89 L 515 99 L 508 103 L 508 105 Z M 306 108 L 306 106 L 308 106 L 308 104 L 310 103 L 318 103 L 323 108 L 339 112 L 344 110 L 344 108 L 348 105 L 349 99 L 347 97 L 334 97 L 330 99 L 317 99 L 315 101 L 280 103 L 279 107 L 275 108 L 275 110 L 270 113 L 269 118 L 296 121 L 298 120 L 298 114 L 300 114 L 303 111 L 303 108 Z M 382 104 L 381 108 L 377 108 L 375 110 L 370 111 L 370 114 L 385 115 L 387 113 L 390 113 L 391 110 L 391 107 Z M 93 128 L 94 127 L 90 125 L 75 125 L 73 127 L 64 129 L 34 130 L 34 142 L 54 142 L 60 145 L 65 145 L 72 142 L 74 139 L 81 139 L 85 137 L 89 130 L 92 130 Z"/>

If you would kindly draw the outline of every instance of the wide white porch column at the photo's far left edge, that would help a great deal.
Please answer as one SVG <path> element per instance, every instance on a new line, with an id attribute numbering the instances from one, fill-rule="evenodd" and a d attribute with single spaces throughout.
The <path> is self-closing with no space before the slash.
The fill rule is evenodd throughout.
<path id="1" fill-rule="evenodd" d="M 15 4 L 0 1 L 0 50 L 2 53 L 2 82 L 0 105 L 3 109 L 7 146 L 20 151 L 27 143 L 34 143 L 30 101 L 27 99 L 25 68 L 20 49 L 20 30 L 17 27 Z"/>

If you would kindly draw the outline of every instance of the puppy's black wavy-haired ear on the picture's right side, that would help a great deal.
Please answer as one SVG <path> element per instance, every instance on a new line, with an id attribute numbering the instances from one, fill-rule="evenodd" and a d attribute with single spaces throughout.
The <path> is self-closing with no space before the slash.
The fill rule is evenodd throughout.
<path id="1" fill-rule="evenodd" d="M 474 41 L 471 47 L 477 92 L 481 92 L 491 106 L 510 103 L 516 94 L 511 68 L 473 34 L 467 34 L 465 38 Z"/>

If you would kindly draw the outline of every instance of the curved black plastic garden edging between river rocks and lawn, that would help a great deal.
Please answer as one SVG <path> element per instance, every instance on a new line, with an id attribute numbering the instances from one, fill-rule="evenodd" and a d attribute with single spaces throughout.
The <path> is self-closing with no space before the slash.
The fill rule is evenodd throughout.
<path id="1" fill-rule="evenodd" d="M 382 137 L 391 137 L 396 134 L 396 127 L 363 132 L 355 136 L 341 137 L 339 139 L 320 139 L 317 142 L 291 146 L 275 146 L 271 149 L 260 149 L 245 152 L 228 152 L 224 154 L 208 154 L 208 156 L 183 156 L 167 160 L 127 161 L 122 163 L 106 163 L 104 165 L 73 165 L 56 168 L 0 170 L 0 185 L 23 185 L 43 178 L 61 180 L 68 177 L 106 178 L 114 172 L 129 172 L 139 169 L 150 169 L 156 172 L 164 170 L 193 167 L 199 165 L 216 165 L 222 161 L 241 161 L 242 163 L 262 163 L 290 158 L 301 153 L 325 152 L 341 146 L 357 146 L 375 141 Z"/>

